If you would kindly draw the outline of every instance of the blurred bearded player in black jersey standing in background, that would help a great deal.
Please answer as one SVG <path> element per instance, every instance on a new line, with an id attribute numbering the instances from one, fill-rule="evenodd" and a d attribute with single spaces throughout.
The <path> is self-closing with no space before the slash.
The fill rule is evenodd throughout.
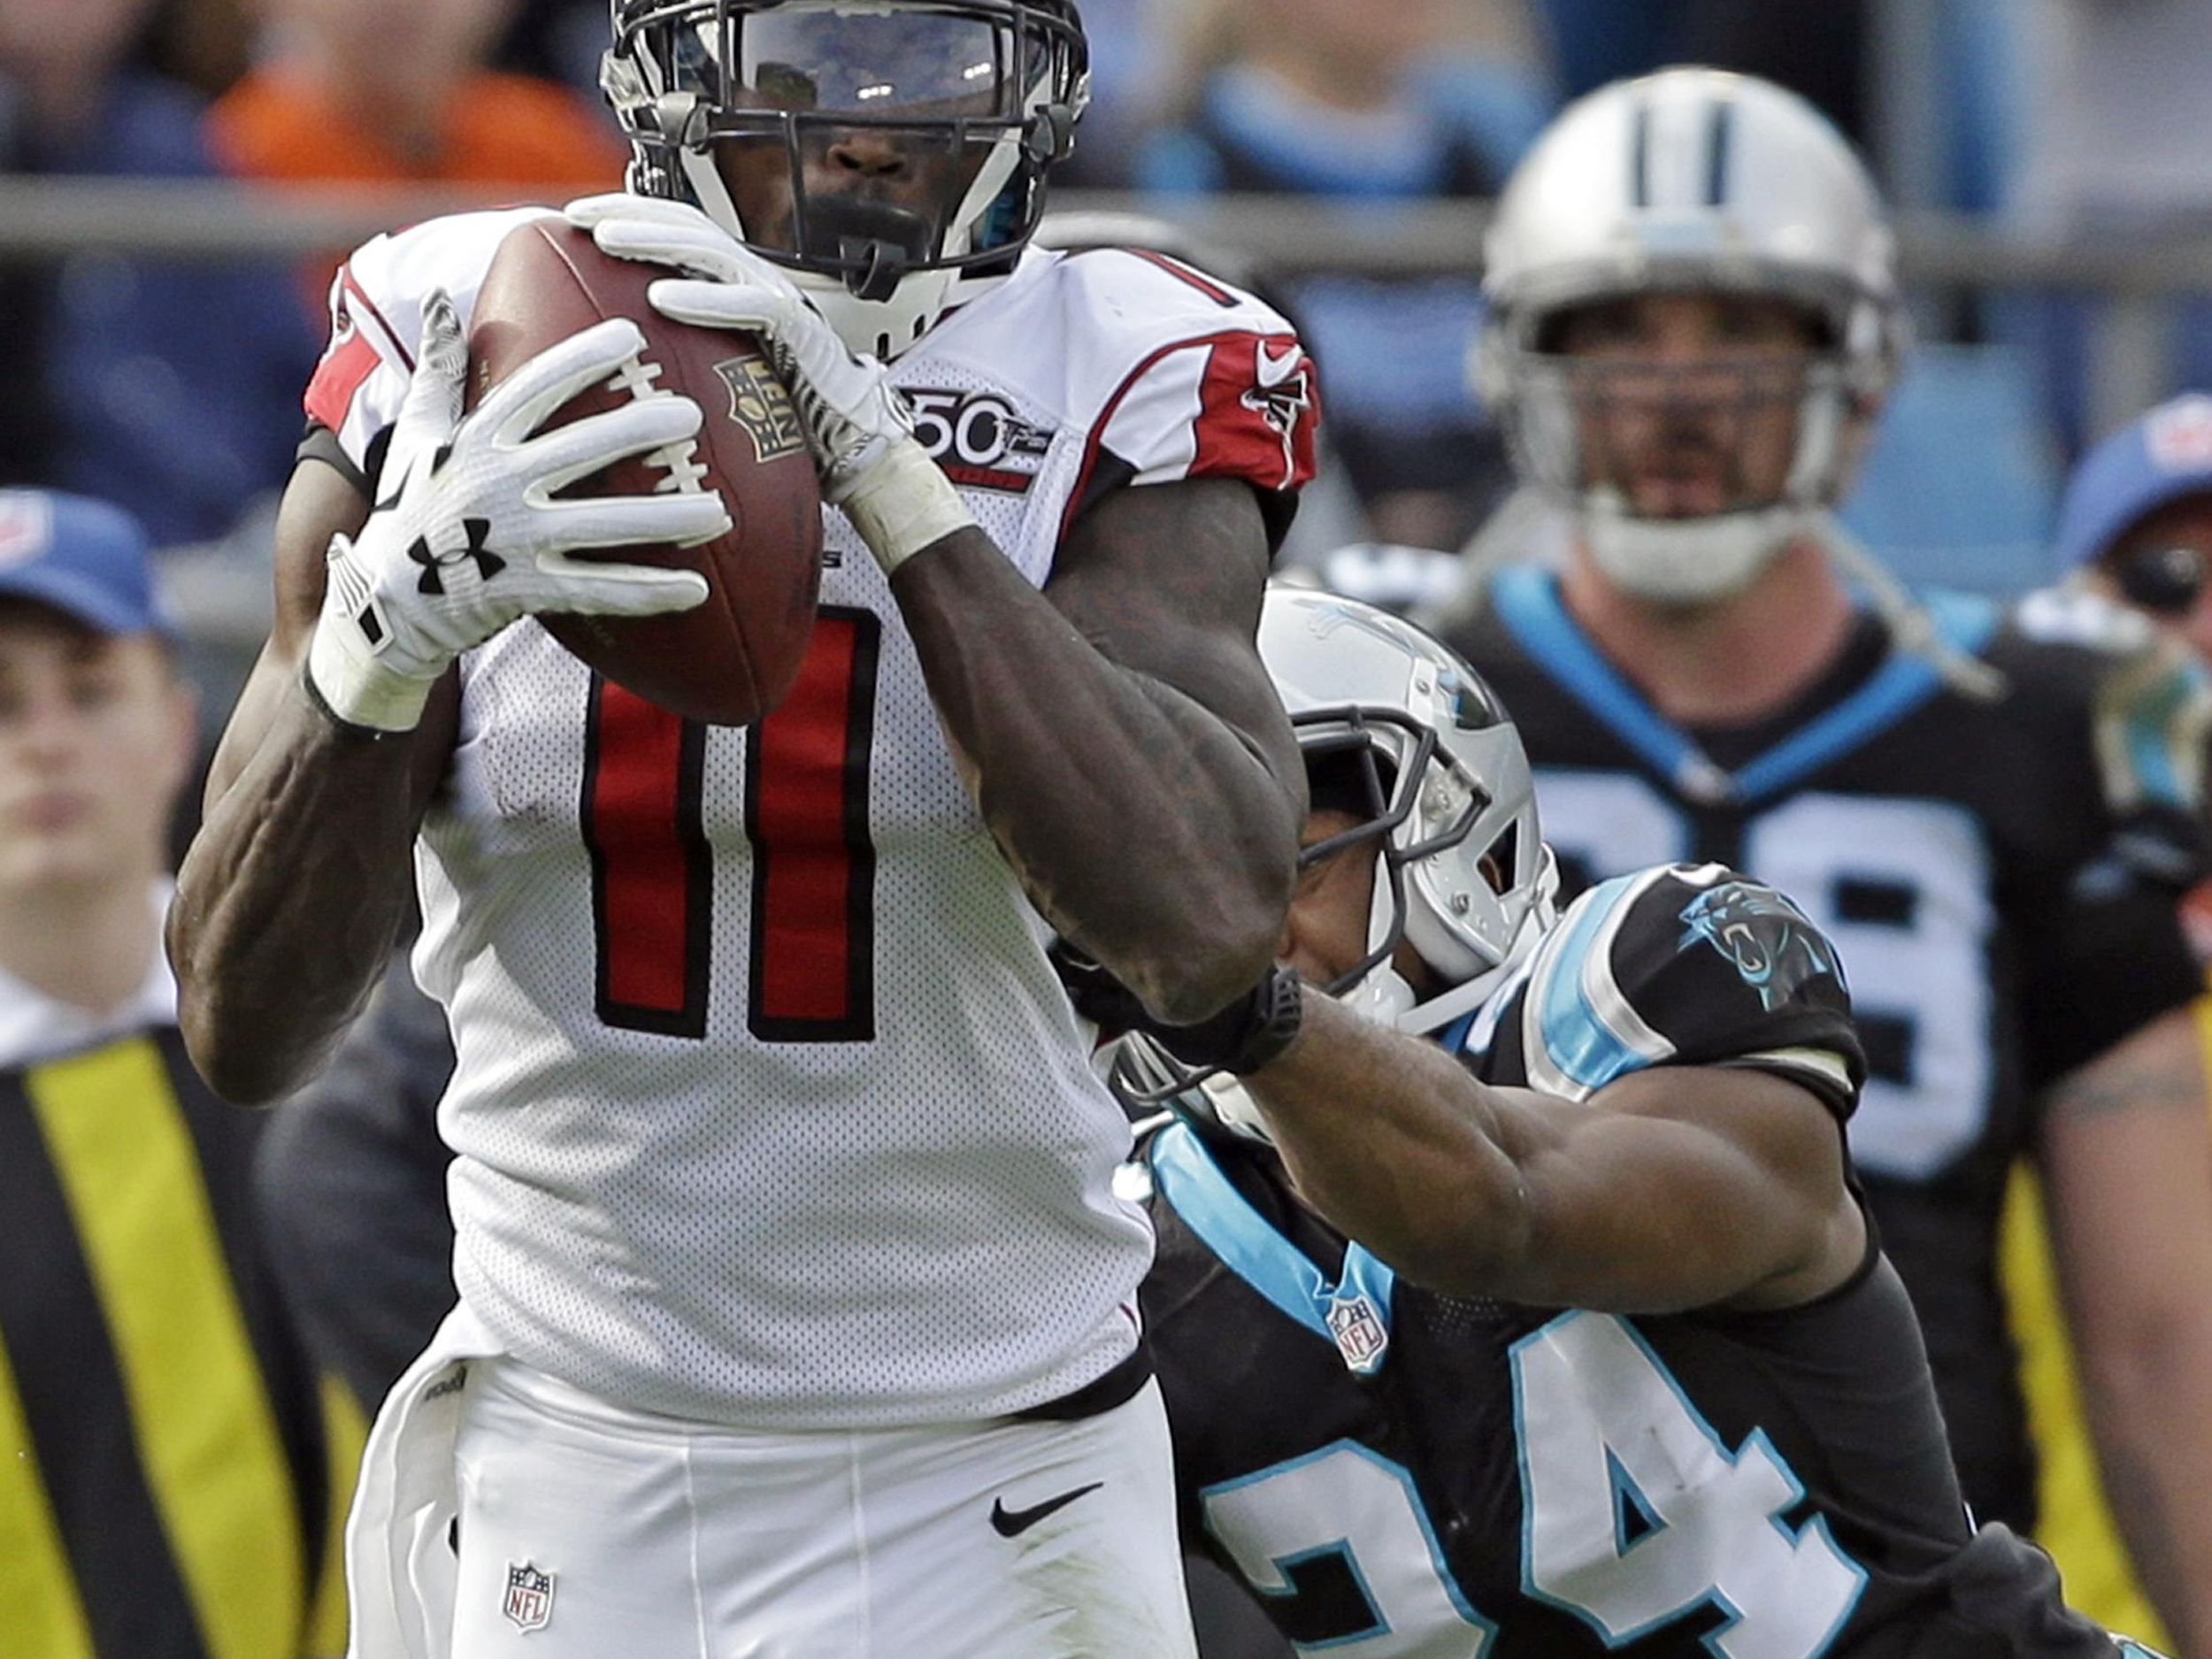
<path id="1" fill-rule="evenodd" d="M 1905 323 L 1874 186 L 1796 97 L 1697 69 L 1595 93 L 1509 184 L 1486 283 L 1484 387 L 1573 546 L 1442 626 L 1522 726 L 1568 889 L 1728 863 L 1845 953 L 1851 1155 L 1966 1498 L 2022 1531 L 1995 1241 L 2037 1161 L 2117 1520 L 2212 1652 L 2197 690 L 2066 606 L 1911 604 L 1845 544 Z"/>

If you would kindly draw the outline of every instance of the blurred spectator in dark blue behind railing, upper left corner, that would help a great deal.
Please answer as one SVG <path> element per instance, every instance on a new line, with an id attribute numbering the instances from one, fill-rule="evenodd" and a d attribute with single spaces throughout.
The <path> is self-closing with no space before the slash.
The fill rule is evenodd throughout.
<path id="1" fill-rule="evenodd" d="M 135 69 L 150 0 L 0 0 L 0 170 L 208 177 L 201 106 Z M 0 484 L 131 509 L 157 544 L 276 489 L 319 349 L 281 268 L 77 254 L 0 270 Z"/>

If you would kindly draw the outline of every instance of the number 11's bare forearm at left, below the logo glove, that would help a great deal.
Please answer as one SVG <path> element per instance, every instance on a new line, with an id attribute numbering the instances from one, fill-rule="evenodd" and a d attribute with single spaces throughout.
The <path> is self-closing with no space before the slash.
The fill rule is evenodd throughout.
<path id="1" fill-rule="evenodd" d="M 376 984 L 409 894 L 411 739 L 369 739 L 296 686 L 177 876 L 179 1022 L 217 1093 L 314 1075 Z"/>

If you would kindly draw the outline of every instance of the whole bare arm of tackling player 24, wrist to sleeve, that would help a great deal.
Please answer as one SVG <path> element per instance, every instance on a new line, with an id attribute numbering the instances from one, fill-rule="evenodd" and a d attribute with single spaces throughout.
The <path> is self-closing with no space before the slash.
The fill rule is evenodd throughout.
<path id="1" fill-rule="evenodd" d="M 1670 1314 L 1790 1307 L 1856 1272 L 1836 1124 L 1754 1071 L 1659 1066 L 1588 1102 L 1475 1079 L 1312 998 L 1248 1079 L 1301 1197 L 1431 1290 Z"/>

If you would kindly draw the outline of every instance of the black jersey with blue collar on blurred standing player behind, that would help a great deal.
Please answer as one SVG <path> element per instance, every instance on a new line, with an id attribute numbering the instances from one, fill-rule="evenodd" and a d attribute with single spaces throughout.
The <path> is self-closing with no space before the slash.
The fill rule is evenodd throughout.
<path id="1" fill-rule="evenodd" d="M 1953 690 L 1860 617 L 1772 721 L 1681 730 L 1613 668 L 1557 582 L 1500 571 L 1447 626 L 1513 712 L 1566 891 L 1719 860 L 1792 894 L 1851 973 L 1867 1091 L 1851 1157 L 1927 1329 L 1973 1511 L 2035 1524 L 1997 1290 L 1997 1217 L 2033 1102 L 2203 980 L 2177 898 L 2205 869 L 2203 684 L 2090 597 L 1936 597 Z"/>

